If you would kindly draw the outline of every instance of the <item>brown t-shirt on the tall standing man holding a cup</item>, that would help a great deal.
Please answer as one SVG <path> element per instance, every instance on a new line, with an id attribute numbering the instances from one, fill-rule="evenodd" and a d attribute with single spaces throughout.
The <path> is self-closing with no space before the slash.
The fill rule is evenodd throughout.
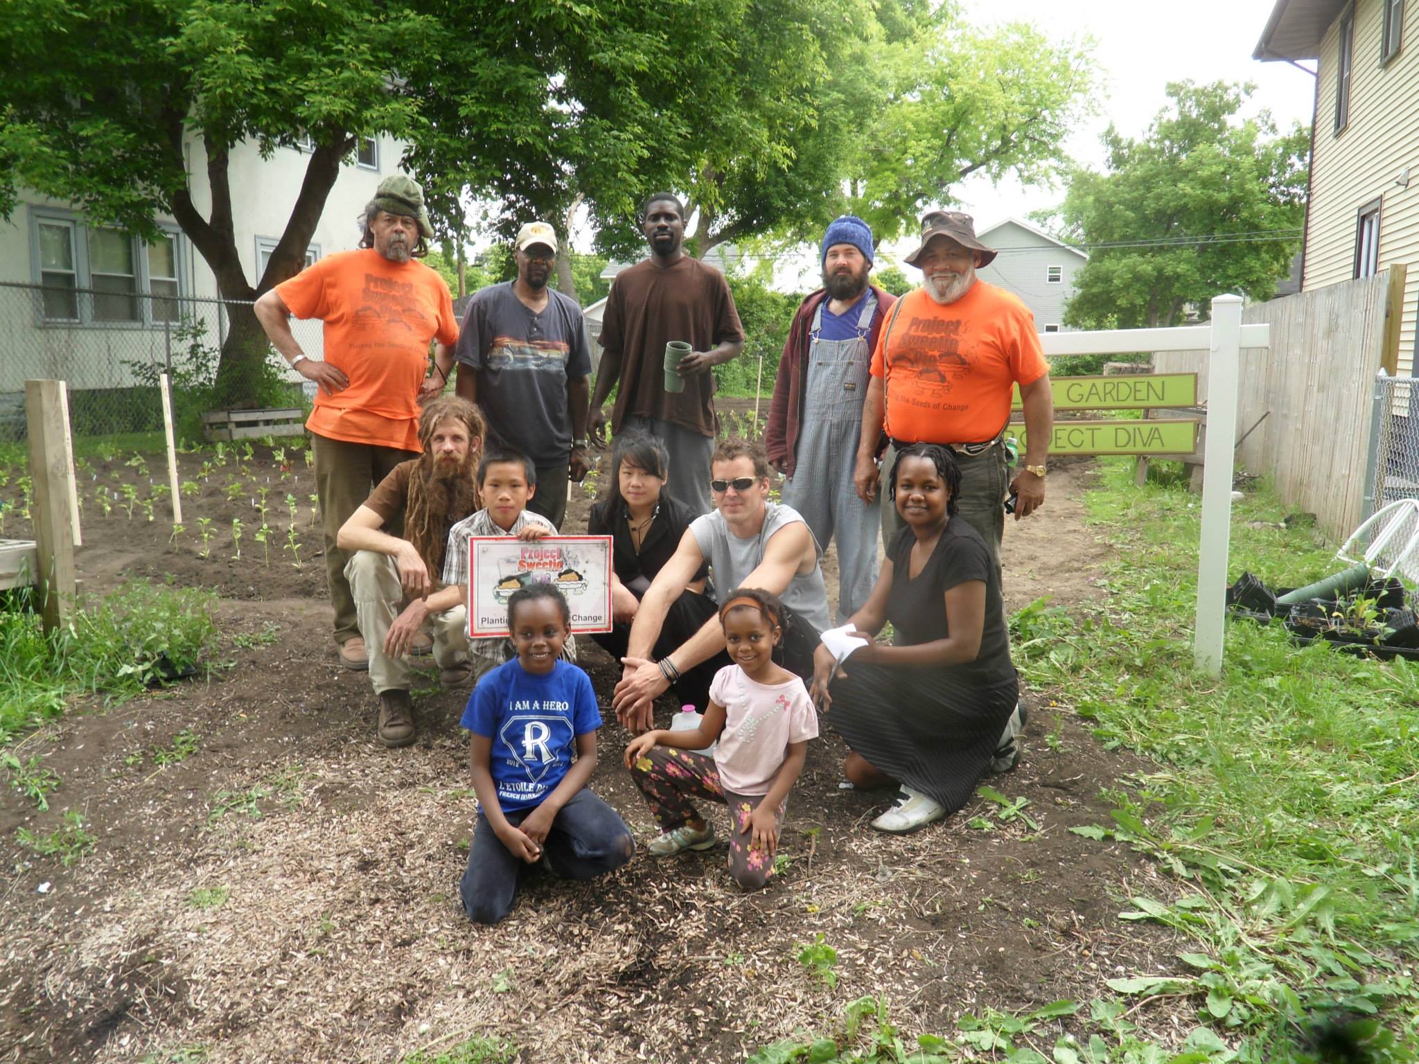
<path id="1" fill-rule="evenodd" d="M 710 350 L 742 339 L 739 312 L 718 270 L 684 255 L 670 265 L 647 258 L 620 271 L 600 335 L 602 348 L 622 355 L 612 431 L 619 433 L 627 417 L 654 417 L 712 437 L 714 376 L 687 377 L 684 392 L 667 393 L 666 345 L 688 340 L 694 350 Z"/>

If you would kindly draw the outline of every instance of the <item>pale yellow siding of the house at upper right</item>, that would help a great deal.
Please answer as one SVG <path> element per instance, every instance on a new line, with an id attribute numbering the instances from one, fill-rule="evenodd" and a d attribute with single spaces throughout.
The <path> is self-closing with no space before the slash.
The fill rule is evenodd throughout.
<path id="1" fill-rule="evenodd" d="M 1381 0 L 1357 0 L 1349 122 L 1335 133 L 1340 20 L 1321 43 L 1305 288 L 1349 281 L 1358 211 L 1381 200 L 1379 268 L 1409 268 L 1399 372 L 1409 373 L 1419 314 L 1419 0 L 1406 0 L 1402 47 L 1379 65 Z M 1409 187 L 1395 179 L 1409 167 Z"/>

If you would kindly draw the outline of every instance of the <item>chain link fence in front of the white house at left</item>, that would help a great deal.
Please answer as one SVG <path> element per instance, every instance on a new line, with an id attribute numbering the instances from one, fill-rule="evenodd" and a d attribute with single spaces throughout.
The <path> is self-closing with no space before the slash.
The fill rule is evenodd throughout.
<path id="1" fill-rule="evenodd" d="M 159 375 L 167 373 L 180 438 L 201 437 L 217 401 L 221 346 L 251 304 L 112 289 L 0 282 L 0 444 L 26 438 L 24 382 L 64 380 L 79 440 L 160 433 Z M 301 348 L 322 358 L 319 321 L 291 321 Z M 315 386 L 274 349 L 230 384 L 245 406 L 308 407 Z"/>

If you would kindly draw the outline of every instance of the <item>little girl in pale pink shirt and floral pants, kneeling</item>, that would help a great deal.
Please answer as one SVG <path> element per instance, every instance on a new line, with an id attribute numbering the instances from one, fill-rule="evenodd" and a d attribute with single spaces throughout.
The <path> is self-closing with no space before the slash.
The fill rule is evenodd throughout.
<path id="1" fill-rule="evenodd" d="M 646 848 L 656 857 L 714 846 L 711 827 L 691 797 L 729 807 L 729 872 L 745 890 L 773 875 L 773 853 L 789 790 L 817 712 L 803 681 L 775 664 L 783 638 L 783 604 L 768 592 L 741 587 L 719 610 L 732 665 L 710 685 L 710 702 L 694 731 L 651 731 L 626 746 L 626 767 L 663 834 Z M 714 758 L 695 753 L 718 739 Z"/>

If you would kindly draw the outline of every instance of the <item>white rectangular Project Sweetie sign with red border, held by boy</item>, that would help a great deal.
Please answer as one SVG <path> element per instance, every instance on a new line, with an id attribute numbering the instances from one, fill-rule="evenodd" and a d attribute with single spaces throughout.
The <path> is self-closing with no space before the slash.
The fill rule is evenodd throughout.
<path id="1" fill-rule="evenodd" d="M 468 637 L 507 636 L 508 599 L 551 583 L 572 610 L 572 633 L 612 630 L 612 538 L 468 539 Z"/>

